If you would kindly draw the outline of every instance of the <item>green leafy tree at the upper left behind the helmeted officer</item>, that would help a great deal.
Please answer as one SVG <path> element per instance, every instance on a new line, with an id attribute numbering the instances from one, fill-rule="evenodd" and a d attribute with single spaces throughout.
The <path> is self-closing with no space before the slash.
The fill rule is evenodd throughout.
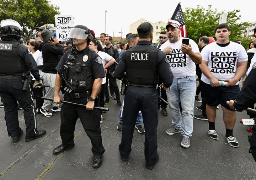
<path id="1" fill-rule="evenodd" d="M 23 28 L 23 38 L 30 39 L 35 27 L 55 24 L 60 14 L 59 6 L 49 5 L 48 0 L 1 0 L 0 19 L 13 19 Z"/>

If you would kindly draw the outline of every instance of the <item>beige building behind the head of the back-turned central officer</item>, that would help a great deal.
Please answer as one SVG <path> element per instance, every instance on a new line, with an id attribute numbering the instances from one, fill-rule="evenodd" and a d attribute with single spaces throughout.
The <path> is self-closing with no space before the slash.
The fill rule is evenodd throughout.
<path id="1" fill-rule="evenodd" d="M 144 19 L 140 19 L 140 20 L 130 24 L 130 33 L 137 33 L 137 27 L 139 26 L 139 24 L 142 24 L 143 22 L 149 22 L 149 21 L 144 20 Z M 149 23 L 152 24 L 152 26 L 154 27 L 154 34 L 153 34 L 153 41 L 152 41 L 152 43 L 156 44 L 156 43 L 158 43 L 159 34 L 162 31 L 161 27 L 165 28 L 167 23 L 166 22 L 162 22 L 162 21 L 158 21 L 156 23 L 152 23 L 152 22 L 149 22 Z"/>

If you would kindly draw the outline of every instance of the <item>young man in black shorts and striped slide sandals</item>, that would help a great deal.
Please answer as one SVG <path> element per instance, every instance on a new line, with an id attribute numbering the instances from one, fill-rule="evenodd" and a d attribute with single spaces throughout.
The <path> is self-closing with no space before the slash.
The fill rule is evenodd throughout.
<path id="1" fill-rule="evenodd" d="M 236 112 L 230 109 L 226 101 L 235 99 L 239 93 L 239 80 L 244 75 L 247 65 L 247 54 L 240 44 L 229 41 L 230 28 L 227 24 L 219 24 L 215 28 L 217 41 L 208 44 L 202 51 L 203 62 L 199 65 L 202 71 L 201 91 L 206 97 L 206 115 L 209 122 L 208 135 L 214 140 L 219 137 L 215 131 L 217 105 L 222 106 L 223 121 L 226 127 L 225 138 L 232 147 L 239 147 L 233 137 Z M 221 86 L 219 81 L 227 81 Z"/>

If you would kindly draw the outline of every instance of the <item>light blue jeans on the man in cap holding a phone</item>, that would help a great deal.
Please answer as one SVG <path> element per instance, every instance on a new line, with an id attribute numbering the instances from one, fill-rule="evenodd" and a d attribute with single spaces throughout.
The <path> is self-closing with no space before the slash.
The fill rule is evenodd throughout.
<path id="1" fill-rule="evenodd" d="M 194 97 L 196 96 L 196 76 L 174 78 L 171 90 L 166 90 L 172 125 L 181 129 L 181 135 L 191 137 L 193 132 Z M 180 112 L 181 103 L 182 112 Z"/>

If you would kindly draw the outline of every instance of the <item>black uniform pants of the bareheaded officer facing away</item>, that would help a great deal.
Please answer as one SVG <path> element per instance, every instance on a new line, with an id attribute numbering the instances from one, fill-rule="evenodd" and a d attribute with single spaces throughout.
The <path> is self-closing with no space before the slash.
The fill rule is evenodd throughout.
<path id="1" fill-rule="evenodd" d="M 128 158 L 132 151 L 134 126 L 142 111 L 145 127 L 144 154 L 147 166 L 155 164 L 157 156 L 158 91 L 156 88 L 128 86 L 124 96 L 122 140 L 119 152 Z"/>

